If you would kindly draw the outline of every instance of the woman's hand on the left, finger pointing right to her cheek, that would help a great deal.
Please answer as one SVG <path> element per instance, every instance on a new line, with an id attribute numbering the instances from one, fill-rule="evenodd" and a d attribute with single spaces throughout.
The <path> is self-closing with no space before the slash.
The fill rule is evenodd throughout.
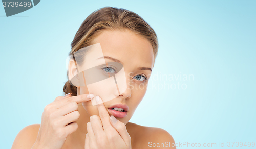
<path id="1" fill-rule="evenodd" d="M 91 95 L 91 96 L 90 96 Z M 93 94 L 57 97 L 48 104 L 42 113 L 41 125 L 35 142 L 36 148 L 60 149 L 68 135 L 77 130 L 80 114 L 78 103 L 87 102 Z"/>

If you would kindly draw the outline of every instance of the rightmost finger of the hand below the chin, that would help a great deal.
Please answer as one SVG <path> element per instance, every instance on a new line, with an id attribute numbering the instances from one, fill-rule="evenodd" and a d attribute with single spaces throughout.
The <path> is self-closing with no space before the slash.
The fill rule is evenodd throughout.
<path id="1" fill-rule="evenodd" d="M 127 132 L 126 125 L 124 123 L 117 120 L 113 115 L 110 116 L 110 123 L 117 130 L 126 144 L 131 141 L 131 137 Z"/>

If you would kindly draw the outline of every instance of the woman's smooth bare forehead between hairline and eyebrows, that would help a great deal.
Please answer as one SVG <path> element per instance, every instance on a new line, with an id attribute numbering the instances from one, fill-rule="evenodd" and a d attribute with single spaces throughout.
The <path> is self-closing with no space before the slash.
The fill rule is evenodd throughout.
<path id="1" fill-rule="evenodd" d="M 140 35 L 126 31 L 102 31 L 93 44 L 100 43 L 104 56 L 120 60 L 123 65 L 153 68 L 154 53 L 151 43 Z"/>

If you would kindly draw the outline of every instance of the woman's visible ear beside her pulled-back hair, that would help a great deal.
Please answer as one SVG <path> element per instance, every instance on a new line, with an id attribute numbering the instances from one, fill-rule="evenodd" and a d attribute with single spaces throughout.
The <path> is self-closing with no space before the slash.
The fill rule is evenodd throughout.
<path id="1" fill-rule="evenodd" d="M 69 81 L 76 87 L 80 87 L 80 79 L 76 68 L 74 59 L 70 59 L 68 64 L 68 78 Z"/>

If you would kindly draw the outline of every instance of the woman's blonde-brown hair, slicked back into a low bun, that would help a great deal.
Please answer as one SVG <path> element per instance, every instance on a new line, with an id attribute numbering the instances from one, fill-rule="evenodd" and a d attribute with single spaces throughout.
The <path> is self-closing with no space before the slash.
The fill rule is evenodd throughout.
<path id="1" fill-rule="evenodd" d="M 154 58 L 156 58 L 158 39 L 155 31 L 138 14 L 116 7 L 103 7 L 91 13 L 78 29 L 71 43 L 71 52 L 69 54 L 72 55 L 79 49 L 91 45 L 93 39 L 103 30 L 130 30 L 135 34 L 141 35 L 150 41 Z M 77 87 L 71 85 L 69 81 L 65 83 L 63 91 L 65 94 L 72 93 L 72 96 L 77 95 Z"/>

